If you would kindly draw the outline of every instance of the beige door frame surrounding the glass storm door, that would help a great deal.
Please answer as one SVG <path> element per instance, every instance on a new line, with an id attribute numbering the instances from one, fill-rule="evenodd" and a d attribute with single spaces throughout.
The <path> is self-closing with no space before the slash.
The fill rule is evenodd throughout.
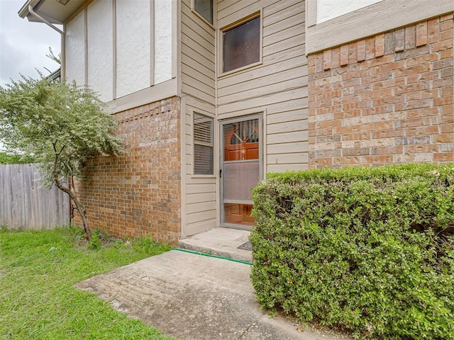
<path id="1" fill-rule="evenodd" d="M 243 229 L 250 230 L 251 227 L 246 225 L 236 225 L 233 223 L 223 222 L 224 220 L 224 201 L 223 201 L 223 157 L 224 157 L 224 135 L 223 135 L 223 125 L 238 123 L 245 120 L 258 119 L 258 166 L 259 166 L 259 180 L 263 179 L 264 174 L 264 159 L 263 159 L 263 113 L 254 113 L 252 115 L 241 115 L 234 118 L 227 118 L 223 120 L 218 120 L 218 138 L 219 138 L 219 227 L 226 227 L 231 229 Z"/>

